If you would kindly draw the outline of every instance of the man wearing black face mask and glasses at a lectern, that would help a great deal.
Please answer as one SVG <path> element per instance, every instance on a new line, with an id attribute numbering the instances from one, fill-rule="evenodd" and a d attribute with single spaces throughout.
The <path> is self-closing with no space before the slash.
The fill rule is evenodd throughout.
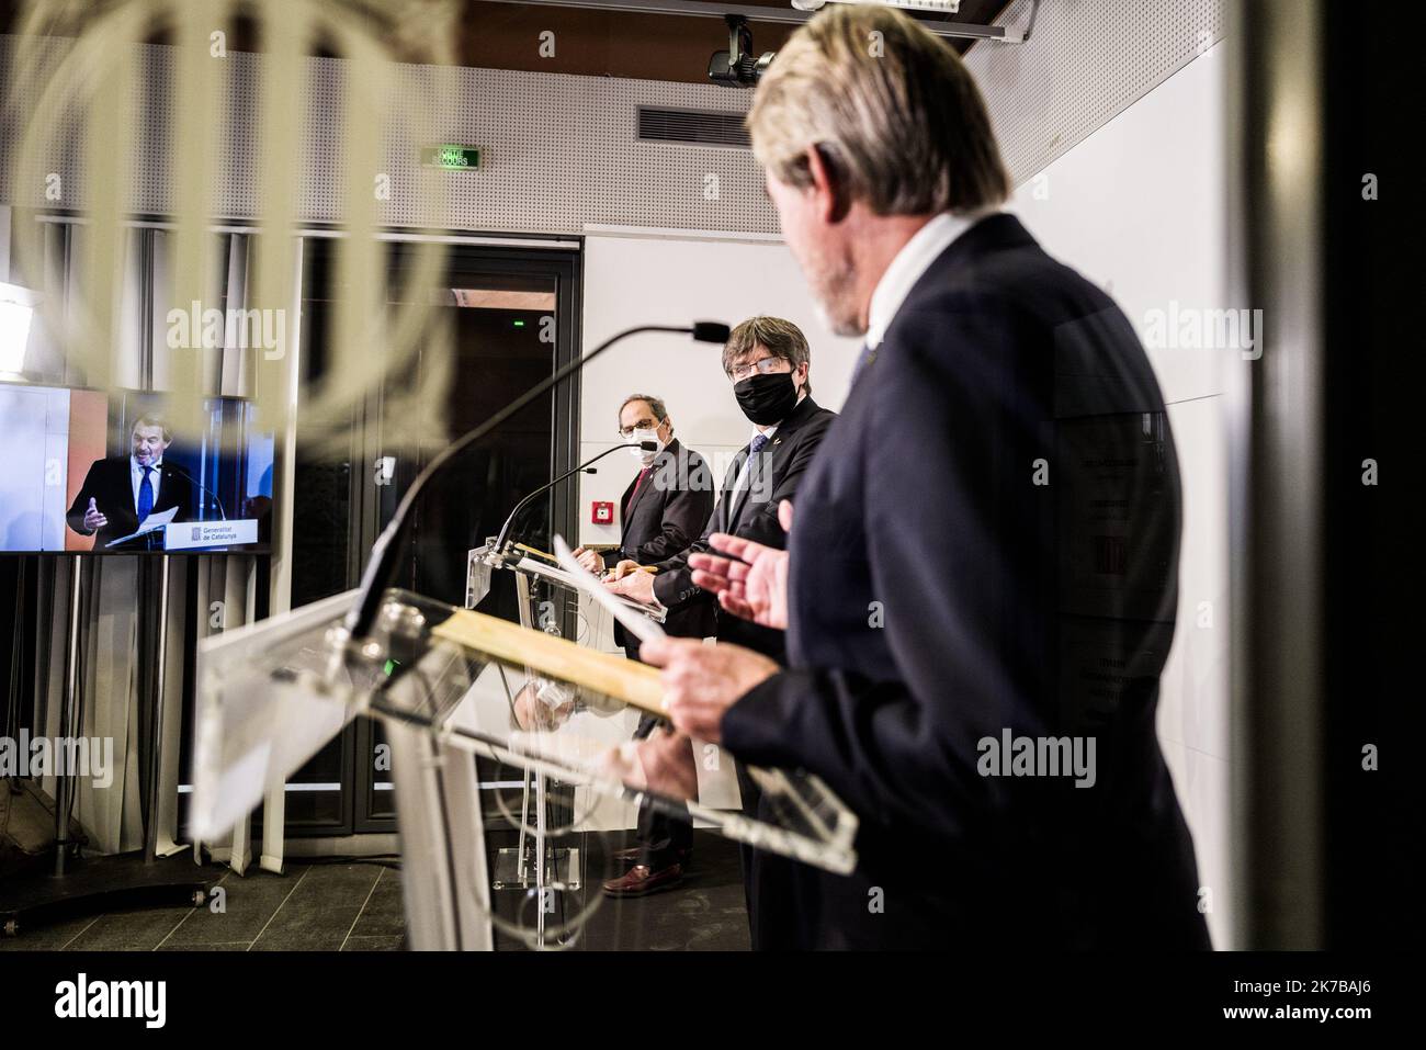
<path id="1" fill-rule="evenodd" d="M 737 325 L 723 347 L 723 371 L 733 382 L 733 395 L 753 424 L 753 438 L 734 457 L 723 481 L 717 506 L 703 535 L 687 549 L 657 564 L 657 575 L 632 572 L 630 564 L 617 566 L 622 574 L 613 589 L 643 602 L 657 601 L 670 615 L 693 609 L 713 609 L 716 595 L 693 581 L 689 559 L 709 551 L 714 534 L 732 534 L 747 541 L 780 549 L 787 538 L 777 519 L 777 506 L 791 499 L 801 484 L 823 435 L 836 412 L 811 399 L 811 350 L 801 330 L 777 317 L 753 317 Z M 750 623 L 737 616 L 717 618 L 717 639 L 747 646 L 766 658 L 781 662 L 786 632 Z M 743 809 L 760 812 L 761 802 L 753 780 L 739 769 Z M 744 847 L 743 879 L 747 892 L 749 923 L 753 944 L 774 939 L 767 932 L 786 913 L 764 907 L 769 897 L 780 897 L 787 862 Z"/>

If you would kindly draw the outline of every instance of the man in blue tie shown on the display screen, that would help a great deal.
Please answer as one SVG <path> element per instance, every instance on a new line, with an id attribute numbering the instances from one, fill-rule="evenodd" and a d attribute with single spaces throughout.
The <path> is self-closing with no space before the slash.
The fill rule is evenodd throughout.
<path id="1" fill-rule="evenodd" d="M 64 515 L 71 529 L 94 536 L 96 551 L 147 549 L 153 534 L 113 548 L 108 544 L 131 535 L 150 514 L 178 508 L 174 521 L 193 516 L 193 479 L 164 462 L 164 452 L 173 444 L 168 424 L 145 414 L 134 421 L 128 437 L 128 455 L 111 455 L 90 464 L 84 484 Z"/>

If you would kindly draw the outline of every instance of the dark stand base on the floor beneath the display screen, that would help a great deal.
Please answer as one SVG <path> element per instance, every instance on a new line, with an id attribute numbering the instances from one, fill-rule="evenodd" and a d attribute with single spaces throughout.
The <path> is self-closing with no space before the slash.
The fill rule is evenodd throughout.
<path id="1" fill-rule="evenodd" d="M 175 855 L 144 863 L 143 852 L 66 860 L 64 875 L 7 880 L 0 932 L 14 937 L 37 926 L 125 907 L 173 907 L 208 902 L 211 879 L 198 876 L 193 859 Z"/>

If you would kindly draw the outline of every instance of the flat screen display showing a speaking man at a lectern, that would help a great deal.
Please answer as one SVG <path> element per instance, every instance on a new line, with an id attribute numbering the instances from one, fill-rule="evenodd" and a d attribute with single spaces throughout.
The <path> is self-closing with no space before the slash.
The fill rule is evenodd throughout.
<path id="1" fill-rule="evenodd" d="M 0 552 L 260 554 L 274 435 L 242 398 L 180 429 L 163 395 L 0 384 Z"/>

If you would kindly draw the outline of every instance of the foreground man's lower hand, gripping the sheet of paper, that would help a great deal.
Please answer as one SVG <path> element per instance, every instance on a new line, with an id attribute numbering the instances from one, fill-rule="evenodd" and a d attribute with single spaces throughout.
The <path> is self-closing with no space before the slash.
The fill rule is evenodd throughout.
<path id="1" fill-rule="evenodd" d="M 639 659 L 663 668 L 663 706 L 674 728 L 709 743 L 723 742 L 723 712 L 780 668 L 740 645 L 704 645 L 692 638 L 655 638 Z"/>

